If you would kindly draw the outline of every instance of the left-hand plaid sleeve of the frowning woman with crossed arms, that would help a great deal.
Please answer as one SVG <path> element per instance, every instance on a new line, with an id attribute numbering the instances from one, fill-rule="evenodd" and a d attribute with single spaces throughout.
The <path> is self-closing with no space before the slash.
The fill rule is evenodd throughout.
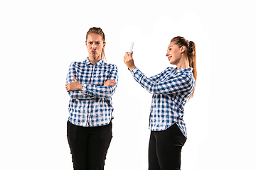
<path id="1" fill-rule="evenodd" d="M 68 69 L 68 74 L 66 78 L 66 83 L 73 82 L 73 76 L 75 75 L 75 78 L 78 79 L 77 72 L 75 71 L 75 65 L 74 62 L 70 64 L 70 67 Z M 87 94 L 82 94 L 82 91 L 69 91 L 68 92 L 70 98 L 72 99 L 80 99 L 80 100 L 90 100 L 92 98 L 95 98 L 95 96 L 90 96 Z"/>

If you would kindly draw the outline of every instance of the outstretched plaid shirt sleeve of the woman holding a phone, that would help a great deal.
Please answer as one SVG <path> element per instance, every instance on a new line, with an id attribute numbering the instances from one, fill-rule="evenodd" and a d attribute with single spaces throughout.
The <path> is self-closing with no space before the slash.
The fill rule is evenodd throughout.
<path id="1" fill-rule="evenodd" d="M 151 94 L 174 94 L 193 89 L 192 77 L 189 77 L 187 74 L 164 81 L 156 81 L 156 78 L 147 78 L 135 67 L 132 69 L 132 75 L 134 79 Z"/>

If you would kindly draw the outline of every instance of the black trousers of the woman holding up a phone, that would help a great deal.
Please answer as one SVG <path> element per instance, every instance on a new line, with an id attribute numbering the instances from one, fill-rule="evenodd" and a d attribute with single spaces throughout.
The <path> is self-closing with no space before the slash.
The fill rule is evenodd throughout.
<path id="1" fill-rule="evenodd" d="M 149 170 L 181 169 L 181 148 L 186 142 L 175 123 L 163 131 L 151 131 L 149 140 Z"/>

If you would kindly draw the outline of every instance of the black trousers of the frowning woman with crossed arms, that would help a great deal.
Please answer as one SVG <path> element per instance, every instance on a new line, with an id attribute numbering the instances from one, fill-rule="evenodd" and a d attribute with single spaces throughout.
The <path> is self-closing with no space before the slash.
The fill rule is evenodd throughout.
<path id="1" fill-rule="evenodd" d="M 67 123 L 67 137 L 74 170 L 103 170 L 112 139 L 112 123 L 82 127 Z"/>

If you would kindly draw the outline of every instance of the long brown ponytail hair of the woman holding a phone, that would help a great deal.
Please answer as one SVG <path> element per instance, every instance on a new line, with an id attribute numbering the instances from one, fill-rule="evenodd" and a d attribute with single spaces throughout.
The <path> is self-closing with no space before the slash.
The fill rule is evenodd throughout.
<path id="1" fill-rule="evenodd" d="M 188 41 L 183 37 L 175 37 L 173 39 L 171 39 L 171 42 L 175 42 L 176 45 L 178 45 L 178 47 L 182 47 L 185 46 L 186 47 L 186 52 L 188 55 L 188 63 L 189 63 L 189 67 L 193 68 L 193 77 L 195 79 L 195 88 L 193 89 L 193 92 L 191 94 L 191 96 L 189 97 L 192 98 L 193 97 L 193 93 L 196 89 L 196 78 L 197 78 L 197 71 L 196 71 L 196 44 L 193 41 Z"/>

